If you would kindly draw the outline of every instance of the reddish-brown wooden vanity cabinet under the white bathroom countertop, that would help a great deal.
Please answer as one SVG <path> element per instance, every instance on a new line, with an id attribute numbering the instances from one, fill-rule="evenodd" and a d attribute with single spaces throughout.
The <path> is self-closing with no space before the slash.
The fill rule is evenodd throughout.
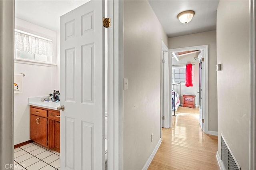
<path id="1" fill-rule="evenodd" d="M 30 139 L 60 152 L 60 111 L 30 105 Z"/>

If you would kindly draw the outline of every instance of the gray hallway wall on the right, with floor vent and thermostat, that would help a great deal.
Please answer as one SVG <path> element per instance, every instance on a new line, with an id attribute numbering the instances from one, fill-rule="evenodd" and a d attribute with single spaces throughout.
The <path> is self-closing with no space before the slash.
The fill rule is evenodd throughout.
<path id="1" fill-rule="evenodd" d="M 218 153 L 222 133 L 242 170 L 249 169 L 249 19 L 249 1 L 219 2 Z"/>

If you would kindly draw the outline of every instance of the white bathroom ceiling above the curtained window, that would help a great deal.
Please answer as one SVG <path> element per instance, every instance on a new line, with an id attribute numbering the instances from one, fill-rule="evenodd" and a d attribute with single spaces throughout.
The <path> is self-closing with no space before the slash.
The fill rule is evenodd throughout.
<path id="1" fill-rule="evenodd" d="M 15 17 L 53 31 L 60 30 L 60 16 L 88 0 L 15 0 Z"/>

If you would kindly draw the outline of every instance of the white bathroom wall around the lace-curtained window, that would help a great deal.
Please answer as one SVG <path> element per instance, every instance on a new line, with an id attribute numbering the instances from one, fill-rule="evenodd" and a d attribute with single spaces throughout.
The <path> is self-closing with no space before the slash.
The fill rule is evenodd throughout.
<path id="1" fill-rule="evenodd" d="M 56 36 L 56 32 L 18 18 L 15 20 L 15 28 L 50 39 Z M 57 42 L 59 42 L 58 40 L 59 36 Z M 57 49 L 56 61 L 58 64 L 60 60 L 59 43 L 57 43 Z M 20 73 L 24 73 L 25 76 L 23 79 L 23 93 L 14 94 L 14 145 L 30 140 L 28 97 L 45 96 L 52 93 L 54 89 L 60 89 L 59 64 L 48 67 L 15 62 L 14 74 Z"/>

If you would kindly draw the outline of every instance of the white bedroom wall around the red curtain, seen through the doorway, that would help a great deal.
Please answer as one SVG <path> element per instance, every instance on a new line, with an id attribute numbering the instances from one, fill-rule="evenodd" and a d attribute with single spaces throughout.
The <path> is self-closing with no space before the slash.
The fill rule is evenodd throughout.
<path id="1" fill-rule="evenodd" d="M 199 91 L 199 63 L 198 61 L 196 61 L 194 59 L 194 57 L 197 58 L 198 53 L 193 53 L 193 54 L 188 54 L 188 55 L 184 55 L 181 57 L 178 57 L 179 61 L 177 61 L 176 59 L 172 59 L 172 65 L 179 65 L 179 64 L 188 64 L 188 63 L 194 63 L 195 65 L 193 65 L 193 86 L 192 87 L 186 87 L 185 84 L 181 84 L 180 85 L 180 103 L 183 104 L 183 97 L 182 95 L 188 94 L 188 95 L 196 95 L 196 106 L 199 106 L 199 95 L 198 95 L 198 91 Z M 179 67 L 179 66 L 178 66 Z M 178 67 L 173 67 L 173 68 L 178 68 Z M 184 66 L 186 67 L 186 65 Z M 170 76 L 170 79 L 172 77 Z M 177 86 L 178 88 L 178 86 Z M 176 86 L 174 85 L 174 90 L 176 89 Z M 179 88 L 178 91 L 179 93 Z"/>

